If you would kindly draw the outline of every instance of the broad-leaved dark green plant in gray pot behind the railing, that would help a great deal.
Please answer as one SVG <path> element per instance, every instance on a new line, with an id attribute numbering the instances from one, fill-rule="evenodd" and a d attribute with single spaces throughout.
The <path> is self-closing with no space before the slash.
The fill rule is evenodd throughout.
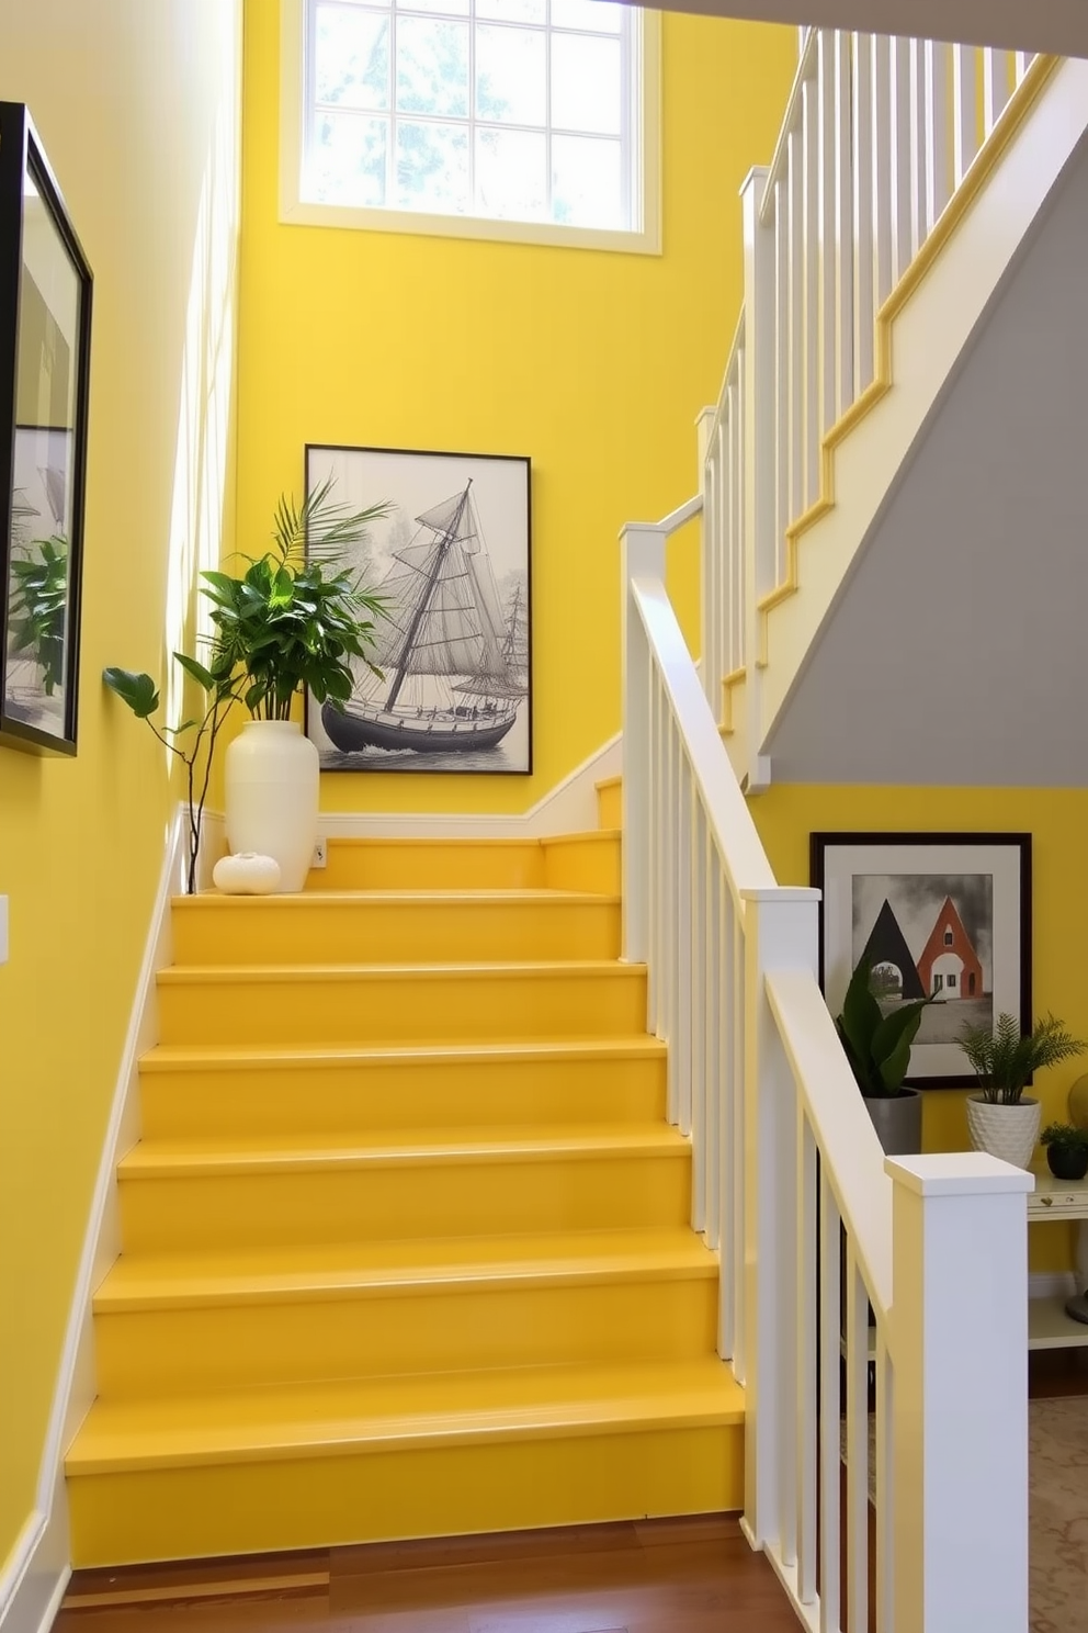
<path id="1" fill-rule="evenodd" d="M 838 1040 L 887 1156 L 922 1150 L 922 1097 L 904 1086 L 904 1078 L 922 1011 L 931 1003 L 933 998 L 896 1001 L 884 1012 L 873 994 L 873 968 L 863 960 L 850 977 L 842 1014 L 835 1019 Z"/>

